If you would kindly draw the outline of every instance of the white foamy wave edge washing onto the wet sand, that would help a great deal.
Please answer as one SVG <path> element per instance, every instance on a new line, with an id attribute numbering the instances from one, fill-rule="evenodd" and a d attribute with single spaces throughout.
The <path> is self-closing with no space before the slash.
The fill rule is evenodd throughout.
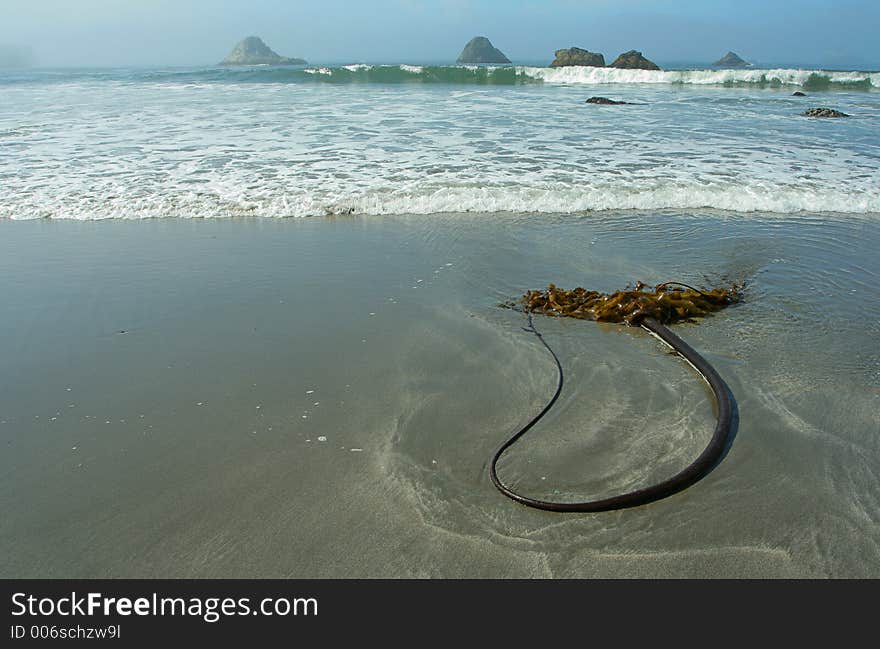
<path id="1" fill-rule="evenodd" d="M 798 187 L 422 187 L 356 194 L 264 193 L 238 196 L 164 192 L 147 196 L 57 197 L 32 205 L 0 205 L 0 219 L 287 218 L 330 215 L 447 213 L 572 214 L 618 210 L 698 210 L 775 214 L 880 214 L 869 191 Z"/>

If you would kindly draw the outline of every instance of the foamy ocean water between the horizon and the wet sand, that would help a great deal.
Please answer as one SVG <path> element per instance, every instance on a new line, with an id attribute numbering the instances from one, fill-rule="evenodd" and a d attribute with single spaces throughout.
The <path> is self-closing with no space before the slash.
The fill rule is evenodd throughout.
<path id="1" fill-rule="evenodd" d="M 800 116 L 815 106 L 852 117 Z M 880 212 L 878 125 L 878 72 L 6 72 L 0 218 L 864 215 Z"/>

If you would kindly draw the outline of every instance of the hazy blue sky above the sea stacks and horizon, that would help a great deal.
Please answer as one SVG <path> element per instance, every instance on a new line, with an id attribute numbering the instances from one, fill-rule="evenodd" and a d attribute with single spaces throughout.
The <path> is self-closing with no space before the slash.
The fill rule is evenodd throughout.
<path id="1" fill-rule="evenodd" d="M 880 67 L 877 0 L 0 0 L 0 63 L 200 65 L 244 36 L 311 62 L 454 61 L 488 36 L 514 62 L 613 59 Z"/>

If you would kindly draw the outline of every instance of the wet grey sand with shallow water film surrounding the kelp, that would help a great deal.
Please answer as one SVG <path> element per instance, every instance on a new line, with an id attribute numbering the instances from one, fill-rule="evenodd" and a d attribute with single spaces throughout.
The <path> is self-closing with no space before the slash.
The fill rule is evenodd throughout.
<path id="1" fill-rule="evenodd" d="M 880 220 L 621 212 L 0 222 L 7 577 L 880 576 Z M 494 449 L 552 394 L 497 308 L 748 282 L 676 331 L 736 439 L 649 506 L 537 512 Z M 559 405 L 501 463 L 585 499 L 687 464 L 710 396 L 640 330 L 541 318 Z"/>

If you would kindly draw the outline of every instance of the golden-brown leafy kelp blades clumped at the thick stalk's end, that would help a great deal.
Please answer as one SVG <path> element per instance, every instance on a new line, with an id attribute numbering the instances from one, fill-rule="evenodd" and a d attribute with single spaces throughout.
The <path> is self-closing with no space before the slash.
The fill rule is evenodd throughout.
<path id="1" fill-rule="evenodd" d="M 585 288 L 565 290 L 550 284 L 546 290 L 528 291 L 521 304 L 508 303 L 529 313 L 616 322 L 638 326 L 645 318 L 663 324 L 695 322 L 741 299 L 742 286 L 700 290 L 678 282 L 650 287 L 642 282 L 614 293 Z"/>

